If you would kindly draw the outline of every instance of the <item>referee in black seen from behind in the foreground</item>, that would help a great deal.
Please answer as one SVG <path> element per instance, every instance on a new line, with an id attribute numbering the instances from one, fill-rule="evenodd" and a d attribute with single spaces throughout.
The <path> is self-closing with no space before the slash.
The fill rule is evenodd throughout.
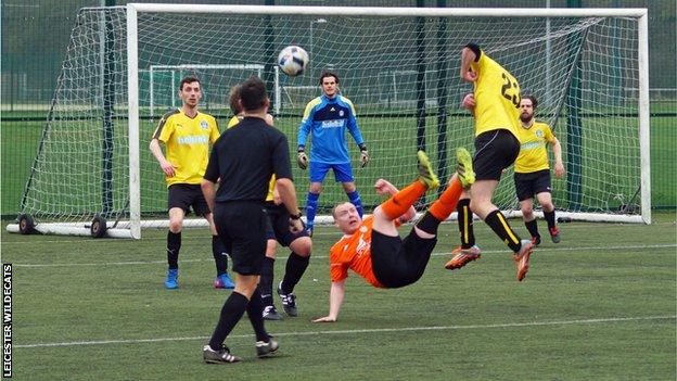
<path id="1" fill-rule="evenodd" d="M 264 202 L 273 174 L 282 203 L 291 215 L 290 229 L 294 232 L 304 229 L 292 182 L 286 137 L 266 124 L 270 101 L 264 82 L 257 77 L 244 81 L 240 102 L 244 118 L 214 143 L 202 181 L 204 196 L 214 211 L 216 230 L 231 253 L 235 272 L 235 289 L 223 303 L 214 334 L 203 348 L 205 363 L 213 364 L 241 360 L 223 342 L 245 310 L 256 334 L 257 356 L 268 356 L 279 346 L 264 327 L 264 306 L 257 289 L 266 256 L 268 217 Z"/>

